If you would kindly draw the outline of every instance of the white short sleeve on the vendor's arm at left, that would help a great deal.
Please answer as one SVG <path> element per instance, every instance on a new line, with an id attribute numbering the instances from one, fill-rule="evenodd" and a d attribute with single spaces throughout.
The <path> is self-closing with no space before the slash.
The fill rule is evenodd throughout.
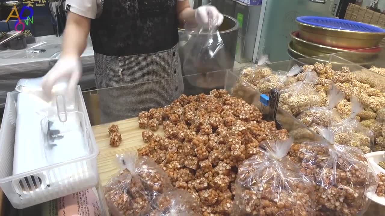
<path id="1" fill-rule="evenodd" d="M 67 0 L 70 12 L 95 19 L 100 12 L 100 0 Z"/>

